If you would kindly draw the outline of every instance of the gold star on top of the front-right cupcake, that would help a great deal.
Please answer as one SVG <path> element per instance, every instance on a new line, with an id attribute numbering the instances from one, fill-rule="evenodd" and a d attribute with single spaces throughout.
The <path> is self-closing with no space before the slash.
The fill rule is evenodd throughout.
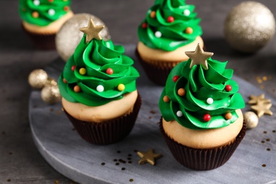
<path id="1" fill-rule="evenodd" d="M 208 69 L 207 59 L 209 59 L 209 57 L 212 57 L 214 53 L 204 52 L 204 50 L 202 50 L 202 47 L 200 47 L 200 44 L 197 44 L 195 52 L 185 52 L 185 54 L 188 55 L 190 59 L 192 59 L 192 62 L 190 63 L 190 69 L 197 64 L 201 64 L 204 69 Z"/>

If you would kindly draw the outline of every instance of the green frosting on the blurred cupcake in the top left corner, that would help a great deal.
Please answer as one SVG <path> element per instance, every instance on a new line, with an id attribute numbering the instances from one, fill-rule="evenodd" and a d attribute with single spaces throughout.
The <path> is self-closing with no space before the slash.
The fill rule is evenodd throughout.
<path id="1" fill-rule="evenodd" d="M 71 0 L 20 0 L 19 13 L 27 23 L 45 26 L 70 11 Z"/>

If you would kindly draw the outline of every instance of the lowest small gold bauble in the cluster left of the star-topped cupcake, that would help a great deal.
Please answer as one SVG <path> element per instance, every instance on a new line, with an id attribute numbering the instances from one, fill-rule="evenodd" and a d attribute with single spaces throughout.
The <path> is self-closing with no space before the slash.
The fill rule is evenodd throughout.
<path id="1" fill-rule="evenodd" d="M 41 98 L 45 103 L 53 104 L 59 102 L 62 96 L 59 93 L 59 86 L 57 85 L 46 85 L 42 88 Z"/>

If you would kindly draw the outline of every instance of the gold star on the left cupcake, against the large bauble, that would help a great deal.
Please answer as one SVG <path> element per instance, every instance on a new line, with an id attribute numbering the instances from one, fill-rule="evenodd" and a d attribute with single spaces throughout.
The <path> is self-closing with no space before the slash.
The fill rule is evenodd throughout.
<path id="1" fill-rule="evenodd" d="M 93 38 L 97 40 L 102 40 L 102 37 L 100 36 L 100 31 L 103 30 L 104 27 L 105 25 L 95 25 L 91 18 L 88 22 L 88 26 L 84 28 L 80 28 L 79 30 L 86 34 L 86 43 L 87 43 L 87 42 L 90 42 Z"/>

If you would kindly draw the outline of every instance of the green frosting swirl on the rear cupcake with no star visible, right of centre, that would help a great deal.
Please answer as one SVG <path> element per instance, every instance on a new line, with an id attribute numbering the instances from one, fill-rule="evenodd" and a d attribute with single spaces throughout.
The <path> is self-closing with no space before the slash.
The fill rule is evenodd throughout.
<path id="1" fill-rule="evenodd" d="M 196 18 L 194 9 L 195 6 L 185 4 L 185 0 L 156 0 L 138 27 L 139 40 L 147 47 L 166 51 L 189 44 L 202 35 L 200 18 Z M 156 12 L 155 18 L 151 18 L 152 11 Z M 169 16 L 174 19 L 171 23 L 167 21 Z M 146 28 L 143 28 L 144 23 Z M 189 27 L 192 28 L 190 34 L 185 32 Z M 156 31 L 161 33 L 160 38 L 156 37 Z"/>

